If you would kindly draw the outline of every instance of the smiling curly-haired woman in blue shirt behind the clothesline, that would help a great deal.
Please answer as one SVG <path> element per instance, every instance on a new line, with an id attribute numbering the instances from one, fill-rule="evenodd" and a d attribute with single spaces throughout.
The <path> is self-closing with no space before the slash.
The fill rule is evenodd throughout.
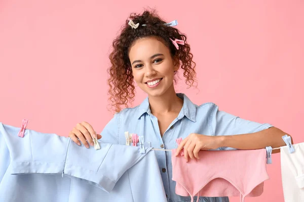
<path id="1" fill-rule="evenodd" d="M 185 161 L 198 158 L 202 149 L 259 149 L 285 145 L 286 133 L 270 124 L 260 124 L 219 111 L 213 103 L 197 106 L 182 93 L 176 93 L 174 79 L 183 73 L 189 86 L 195 83 L 195 63 L 186 36 L 167 24 L 155 12 L 131 14 L 121 34 L 113 41 L 109 58 L 111 66 L 109 93 L 116 114 L 101 134 L 82 122 L 69 137 L 89 148 L 92 136 L 103 142 L 125 144 L 125 131 L 143 135 L 155 148 L 173 149 L 176 139 L 183 138 L 177 154 L 183 148 Z M 134 98 L 134 81 L 147 98 L 137 107 L 121 109 Z M 274 150 L 277 153 L 279 150 Z M 123 154 L 122 154 L 123 155 Z M 171 154 L 156 151 L 168 201 L 190 201 L 190 197 L 175 194 L 172 181 Z M 223 165 L 224 169 L 224 165 Z M 157 194 L 157 193 L 156 193 Z M 227 197 L 201 197 L 200 201 L 229 201 Z"/>

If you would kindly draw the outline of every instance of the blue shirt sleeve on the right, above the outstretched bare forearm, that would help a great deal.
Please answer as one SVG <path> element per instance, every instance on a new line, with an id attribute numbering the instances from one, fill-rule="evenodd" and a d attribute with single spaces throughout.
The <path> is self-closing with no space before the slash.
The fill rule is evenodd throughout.
<path id="1" fill-rule="evenodd" d="M 224 111 L 219 111 L 218 106 L 214 107 L 214 110 L 211 113 L 211 120 L 213 135 L 216 136 L 254 133 L 273 127 L 269 123 L 257 123 L 242 119 Z M 232 148 L 222 147 L 222 149 L 229 150 Z"/>

